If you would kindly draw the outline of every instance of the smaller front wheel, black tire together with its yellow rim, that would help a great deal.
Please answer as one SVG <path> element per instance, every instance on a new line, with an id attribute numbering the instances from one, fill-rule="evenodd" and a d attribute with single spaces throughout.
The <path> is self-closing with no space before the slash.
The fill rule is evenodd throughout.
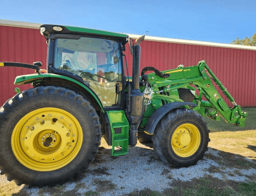
<path id="1" fill-rule="evenodd" d="M 153 148 L 166 164 L 188 167 L 197 164 L 208 150 L 209 132 L 207 122 L 195 111 L 175 109 L 159 121 Z"/>

